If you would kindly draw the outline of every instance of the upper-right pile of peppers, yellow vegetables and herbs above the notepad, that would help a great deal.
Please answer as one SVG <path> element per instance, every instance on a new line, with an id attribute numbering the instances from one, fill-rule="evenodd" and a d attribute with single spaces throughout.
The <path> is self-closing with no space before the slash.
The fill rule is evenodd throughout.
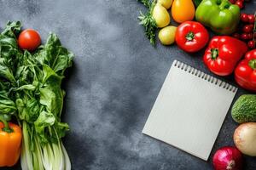
<path id="1" fill-rule="evenodd" d="M 195 53 L 208 46 L 203 59 L 210 71 L 218 76 L 229 76 L 235 71 L 236 82 L 242 88 L 256 91 L 256 49 L 253 49 L 256 20 L 253 14 L 241 14 L 239 1 L 138 1 L 148 8 L 148 12 L 141 12 L 138 18 L 151 44 L 155 46 L 155 33 L 160 28 L 158 37 L 163 45 L 176 42 L 187 53 Z M 180 23 L 179 26 L 169 26 L 171 16 L 168 8 L 171 8 L 172 19 Z M 247 25 L 242 26 L 243 23 Z M 218 35 L 210 40 L 206 27 Z M 248 52 L 248 49 L 253 50 Z M 245 59 L 241 61 L 244 54 Z"/>

